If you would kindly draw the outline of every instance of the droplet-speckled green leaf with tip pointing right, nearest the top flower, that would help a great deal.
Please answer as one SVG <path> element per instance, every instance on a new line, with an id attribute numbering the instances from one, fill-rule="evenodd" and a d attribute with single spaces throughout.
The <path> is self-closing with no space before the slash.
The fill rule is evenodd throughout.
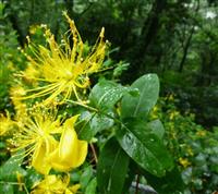
<path id="1" fill-rule="evenodd" d="M 108 110 L 113 108 L 123 95 L 133 90 L 112 81 L 102 80 L 90 92 L 90 105 L 101 110 Z"/>

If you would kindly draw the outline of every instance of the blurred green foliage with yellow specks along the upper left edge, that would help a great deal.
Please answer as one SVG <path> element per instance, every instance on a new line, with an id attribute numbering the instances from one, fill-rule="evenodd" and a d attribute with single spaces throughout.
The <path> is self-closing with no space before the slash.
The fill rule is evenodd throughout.
<path id="1" fill-rule="evenodd" d="M 9 88 L 12 83 L 12 73 L 24 63 L 21 52 L 17 50 L 17 35 L 3 13 L 4 4 L 0 4 L 0 109 L 9 106 Z"/>

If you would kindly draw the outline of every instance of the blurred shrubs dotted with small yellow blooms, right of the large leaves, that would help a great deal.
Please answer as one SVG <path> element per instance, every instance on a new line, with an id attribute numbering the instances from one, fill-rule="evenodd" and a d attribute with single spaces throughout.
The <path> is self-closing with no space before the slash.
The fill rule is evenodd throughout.
<path id="1" fill-rule="evenodd" d="M 191 112 L 175 107 L 177 97 L 159 98 L 150 118 L 159 118 L 166 129 L 166 144 L 180 167 L 185 193 L 213 193 L 217 182 L 217 129 L 209 131 L 195 123 Z"/>

